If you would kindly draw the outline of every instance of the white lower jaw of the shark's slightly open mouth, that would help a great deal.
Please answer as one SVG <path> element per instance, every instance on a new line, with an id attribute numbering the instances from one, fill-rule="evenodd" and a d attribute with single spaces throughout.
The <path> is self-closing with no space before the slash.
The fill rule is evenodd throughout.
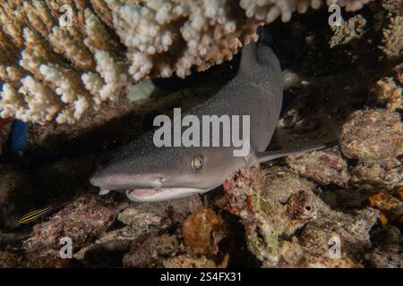
<path id="1" fill-rule="evenodd" d="M 135 202 L 159 202 L 168 199 L 186 198 L 194 193 L 205 193 L 210 189 L 195 188 L 160 188 L 160 189 L 128 189 L 126 197 Z"/>

